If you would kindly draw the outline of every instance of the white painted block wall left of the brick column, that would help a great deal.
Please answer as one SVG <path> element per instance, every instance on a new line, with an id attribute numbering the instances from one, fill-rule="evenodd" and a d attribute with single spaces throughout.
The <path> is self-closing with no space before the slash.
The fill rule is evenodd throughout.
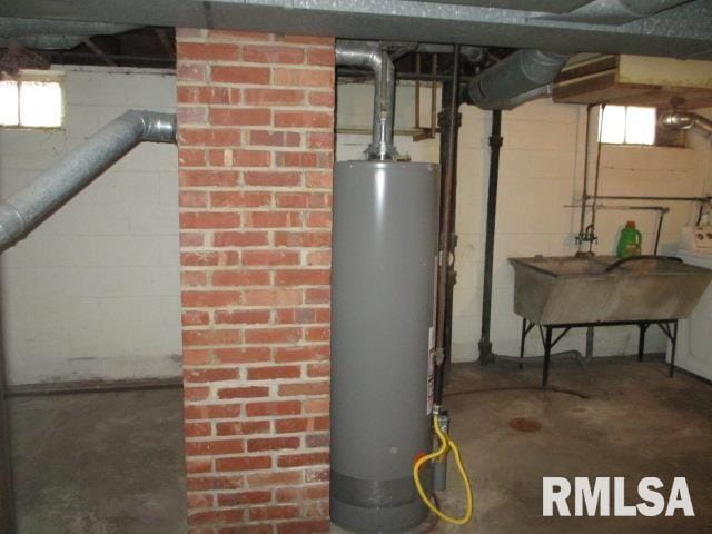
<path id="1" fill-rule="evenodd" d="M 161 71 L 67 68 L 61 130 L 0 130 L 11 195 L 127 109 L 176 109 Z M 180 374 L 176 147 L 142 144 L 0 258 L 10 384 Z"/>

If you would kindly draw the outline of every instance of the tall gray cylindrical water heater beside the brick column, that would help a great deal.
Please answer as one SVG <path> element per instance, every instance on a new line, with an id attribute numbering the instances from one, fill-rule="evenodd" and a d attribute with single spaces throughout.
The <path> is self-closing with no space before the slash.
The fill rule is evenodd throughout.
<path id="1" fill-rule="evenodd" d="M 336 165 L 330 515 L 359 533 L 427 515 L 412 469 L 433 446 L 438 176 L 432 164 Z"/>

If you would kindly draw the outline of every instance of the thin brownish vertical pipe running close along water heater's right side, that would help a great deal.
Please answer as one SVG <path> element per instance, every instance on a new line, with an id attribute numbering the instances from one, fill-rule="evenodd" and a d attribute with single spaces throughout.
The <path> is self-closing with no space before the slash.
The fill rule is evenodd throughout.
<path id="1" fill-rule="evenodd" d="M 447 298 L 447 270 L 451 253 L 452 209 L 454 205 L 454 178 L 457 165 L 455 138 L 457 137 L 457 108 L 459 106 L 459 44 L 453 50 L 453 81 L 449 99 L 449 120 L 447 125 L 447 165 L 443 169 L 443 186 L 441 190 L 441 231 L 439 255 L 437 264 L 437 310 L 435 325 L 435 404 L 441 404 L 444 387 L 445 370 L 445 325 Z"/>

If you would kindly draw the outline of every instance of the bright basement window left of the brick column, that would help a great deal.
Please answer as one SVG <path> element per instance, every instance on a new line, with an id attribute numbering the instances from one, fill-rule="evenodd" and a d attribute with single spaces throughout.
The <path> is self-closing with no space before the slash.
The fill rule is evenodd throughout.
<path id="1" fill-rule="evenodd" d="M 0 127 L 60 128 L 63 115 L 59 77 L 21 72 L 0 80 Z"/>

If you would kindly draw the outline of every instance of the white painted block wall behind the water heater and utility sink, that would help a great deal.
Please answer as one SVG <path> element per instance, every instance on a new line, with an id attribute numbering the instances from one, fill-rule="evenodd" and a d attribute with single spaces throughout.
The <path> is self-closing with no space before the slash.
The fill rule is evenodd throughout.
<path id="1" fill-rule="evenodd" d="M 396 128 L 414 122 L 414 89 L 403 85 L 397 93 Z M 424 97 L 426 97 L 424 91 Z M 343 85 L 338 88 L 339 126 L 368 126 L 373 87 Z M 422 103 L 421 115 L 427 121 L 429 101 Z M 482 309 L 488 136 L 491 113 L 463 106 L 459 134 L 457 224 L 459 243 L 456 250 L 457 285 L 453 317 L 453 359 L 477 357 Z M 583 106 L 530 102 L 506 111 L 503 119 L 500 191 L 497 202 L 492 342 L 500 354 L 518 354 L 521 318 L 513 313 L 514 274 L 507 257 L 571 255 L 578 231 L 577 209 L 566 208 L 581 196 L 584 168 L 585 115 Z M 427 122 L 426 122 L 427 123 Z M 595 118 L 593 120 L 595 122 Z M 593 142 L 591 169 L 595 166 Z M 338 135 L 337 160 L 362 158 L 368 136 Z M 438 139 L 413 142 L 397 137 L 400 152 L 414 161 L 437 161 Z M 689 148 L 604 146 L 601 157 L 601 195 L 674 195 L 699 196 L 709 192 L 709 141 L 690 137 Z M 593 172 L 591 174 L 593 175 Z M 622 204 L 609 201 L 606 204 Z M 661 248 L 678 241 L 682 226 L 692 224 L 696 207 L 691 204 L 664 204 L 671 207 L 665 217 Z M 600 211 L 596 251 L 613 254 L 617 233 L 626 220 L 635 220 L 643 233 L 644 251 L 654 241 L 656 216 L 646 211 Z M 585 346 L 584 332 L 570 333 L 557 349 Z M 664 350 L 662 334 L 649 330 L 647 350 Z M 599 328 L 595 355 L 634 354 L 637 328 Z M 541 354 L 541 344 L 531 336 L 527 354 Z"/>

